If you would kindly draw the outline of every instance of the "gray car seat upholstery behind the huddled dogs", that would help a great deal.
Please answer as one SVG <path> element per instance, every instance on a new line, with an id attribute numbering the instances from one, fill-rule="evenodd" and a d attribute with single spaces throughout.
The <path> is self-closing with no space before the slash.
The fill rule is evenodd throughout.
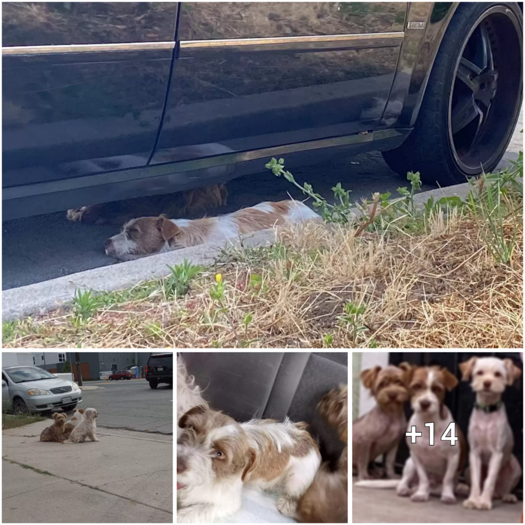
<path id="1" fill-rule="evenodd" d="M 181 352 L 204 397 L 237 421 L 253 416 L 306 421 L 323 459 L 343 449 L 317 411 L 321 397 L 348 383 L 348 352 Z"/>

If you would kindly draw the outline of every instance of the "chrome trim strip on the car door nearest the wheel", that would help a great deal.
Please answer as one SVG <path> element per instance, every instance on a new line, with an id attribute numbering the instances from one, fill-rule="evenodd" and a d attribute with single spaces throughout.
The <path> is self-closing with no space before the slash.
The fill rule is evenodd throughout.
<path id="1" fill-rule="evenodd" d="M 216 40 L 182 40 L 181 49 L 203 49 L 214 47 L 239 47 L 239 46 L 271 46 L 290 44 L 311 44 L 322 42 L 359 42 L 362 40 L 403 39 L 404 31 L 394 33 L 356 33 L 351 35 L 314 35 L 314 36 L 285 36 L 270 38 L 224 38 Z M 392 44 L 392 45 L 397 45 Z"/>

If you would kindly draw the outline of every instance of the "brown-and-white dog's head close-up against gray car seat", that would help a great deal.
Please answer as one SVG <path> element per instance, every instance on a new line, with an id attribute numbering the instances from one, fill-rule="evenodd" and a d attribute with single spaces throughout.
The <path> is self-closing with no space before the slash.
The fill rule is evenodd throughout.
<path id="1" fill-rule="evenodd" d="M 235 419 L 199 405 L 178 421 L 177 490 L 244 476 L 255 462 L 244 429 Z"/>

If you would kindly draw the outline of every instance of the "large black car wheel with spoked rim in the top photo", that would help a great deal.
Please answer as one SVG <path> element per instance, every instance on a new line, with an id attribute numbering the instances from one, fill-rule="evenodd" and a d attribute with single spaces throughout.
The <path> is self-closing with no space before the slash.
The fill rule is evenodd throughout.
<path id="1" fill-rule="evenodd" d="M 490 172 L 522 101 L 523 15 L 513 2 L 461 2 L 434 61 L 414 130 L 386 163 L 405 176 L 457 184 Z"/>

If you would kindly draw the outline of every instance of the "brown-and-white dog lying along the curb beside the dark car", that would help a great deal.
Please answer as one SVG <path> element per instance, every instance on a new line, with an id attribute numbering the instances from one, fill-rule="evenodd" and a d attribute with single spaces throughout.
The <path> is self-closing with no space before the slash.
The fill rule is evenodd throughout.
<path id="1" fill-rule="evenodd" d="M 110 257 L 133 260 L 204 243 L 222 243 L 240 234 L 287 223 L 320 219 L 300 201 L 262 202 L 227 215 L 195 220 L 140 217 L 124 224 L 118 235 L 106 239 L 104 248 Z"/>

